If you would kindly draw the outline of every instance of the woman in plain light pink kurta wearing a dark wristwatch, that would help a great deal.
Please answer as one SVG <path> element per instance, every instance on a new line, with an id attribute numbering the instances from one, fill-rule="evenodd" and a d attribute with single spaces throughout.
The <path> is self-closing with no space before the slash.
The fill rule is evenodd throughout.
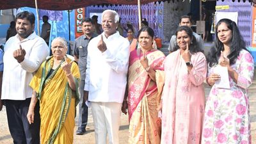
<path id="1" fill-rule="evenodd" d="M 177 51 L 166 57 L 161 143 L 199 144 L 207 62 L 188 26 L 176 32 Z"/>

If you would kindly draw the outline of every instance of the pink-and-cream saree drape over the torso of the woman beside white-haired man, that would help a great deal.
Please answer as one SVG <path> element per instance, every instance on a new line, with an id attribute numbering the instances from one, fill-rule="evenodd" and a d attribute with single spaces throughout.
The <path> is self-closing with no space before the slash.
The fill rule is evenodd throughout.
<path id="1" fill-rule="evenodd" d="M 131 120 L 132 113 L 138 106 L 139 102 L 145 96 L 145 94 L 150 97 L 150 95 L 154 92 L 159 92 L 161 95 L 163 88 L 163 61 L 164 54 L 161 51 L 153 49 L 152 51 L 145 53 L 148 58 L 148 63 L 151 68 L 156 70 L 156 83 L 151 85 L 150 88 L 150 77 L 147 72 L 144 70 L 140 63 L 140 57 L 143 56 L 142 52 L 140 56 L 137 55 L 136 51 L 132 51 L 130 54 L 129 60 L 129 92 L 128 92 L 128 111 L 129 111 L 129 121 Z M 159 96 L 160 98 L 160 96 Z M 160 100 L 160 99 L 159 99 Z"/>

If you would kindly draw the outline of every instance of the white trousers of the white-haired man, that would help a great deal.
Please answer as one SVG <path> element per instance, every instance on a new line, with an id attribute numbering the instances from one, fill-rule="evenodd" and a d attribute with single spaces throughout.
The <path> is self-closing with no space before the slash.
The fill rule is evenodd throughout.
<path id="1" fill-rule="evenodd" d="M 122 104 L 117 102 L 92 102 L 92 116 L 96 144 L 119 144 L 118 131 Z"/>

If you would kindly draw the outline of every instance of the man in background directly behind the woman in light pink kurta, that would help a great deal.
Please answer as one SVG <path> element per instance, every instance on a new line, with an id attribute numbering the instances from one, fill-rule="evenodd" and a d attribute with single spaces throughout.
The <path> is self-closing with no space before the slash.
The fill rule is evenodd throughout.
<path id="1" fill-rule="evenodd" d="M 188 26 L 189 28 L 191 28 L 192 26 L 191 18 L 188 15 L 183 15 L 182 17 L 180 17 L 179 26 Z M 193 32 L 193 36 L 195 36 L 196 38 L 196 42 L 198 44 L 197 48 L 204 51 L 204 41 L 202 40 L 202 37 L 195 32 Z M 176 45 L 177 45 L 176 36 L 173 35 L 170 40 L 170 44 L 168 46 L 169 52 L 176 51 L 177 50 L 175 49 Z"/>

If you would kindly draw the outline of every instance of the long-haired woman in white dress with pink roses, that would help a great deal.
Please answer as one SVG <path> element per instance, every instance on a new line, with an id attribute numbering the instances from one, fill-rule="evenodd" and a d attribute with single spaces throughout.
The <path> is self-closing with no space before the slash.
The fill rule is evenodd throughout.
<path id="1" fill-rule="evenodd" d="M 202 144 L 250 144 L 247 88 L 253 79 L 253 58 L 246 51 L 236 23 L 221 19 L 216 25 L 216 42 L 209 54 L 207 83 L 213 85 L 205 106 Z M 217 65 L 227 67 L 230 89 L 218 88 Z"/>

